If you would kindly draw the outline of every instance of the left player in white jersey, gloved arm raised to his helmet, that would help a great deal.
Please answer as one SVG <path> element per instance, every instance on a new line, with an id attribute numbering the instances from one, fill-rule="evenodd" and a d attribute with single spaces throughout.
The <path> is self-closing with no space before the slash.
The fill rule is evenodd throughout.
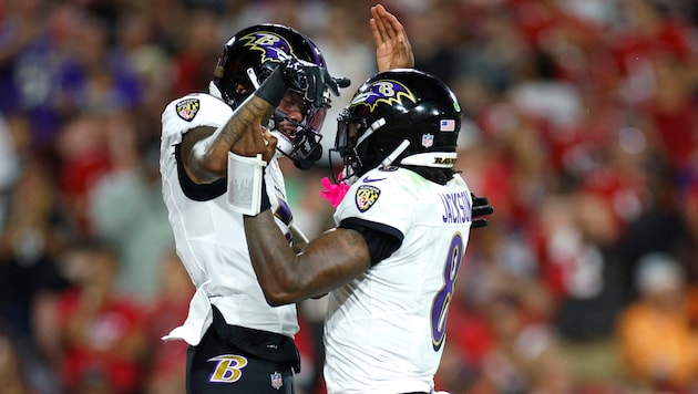
<path id="1" fill-rule="evenodd" d="M 370 28 L 379 70 L 412 66 L 400 22 L 382 6 L 371 9 Z M 264 151 L 269 208 L 286 246 L 302 247 L 291 222 L 277 159 L 301 169 L 320 157 L 320 126 L 333 79 L 320 50 L 302 33 L 259 24 L 224 45 L 208 93 L 172 101 L 162 115 L 163 199 L 177 255 L 196 292 L 186 321 L 165 340 L 184 340 L 188 393 L 294 393 L 299 355 L 296 307 L 270 307 L 249 262 L 243 215 L 227 205 L 228 151 Z M 250 120 L 263 122 L 277 144 L 246 145 Z"/>

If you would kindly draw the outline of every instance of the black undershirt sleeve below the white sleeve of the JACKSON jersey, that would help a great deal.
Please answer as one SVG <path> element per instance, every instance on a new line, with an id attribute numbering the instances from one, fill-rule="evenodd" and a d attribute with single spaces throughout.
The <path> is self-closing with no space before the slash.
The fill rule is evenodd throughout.
<path id="1" fill-rule="evenodd" d="M 404 235 L 394 227 L 359 218 L 346 218 L 337 227 L 349 228 L 361 234 L 369 248 L 371 267 L 389 258 L 400 248 L 404 239 Z"/>

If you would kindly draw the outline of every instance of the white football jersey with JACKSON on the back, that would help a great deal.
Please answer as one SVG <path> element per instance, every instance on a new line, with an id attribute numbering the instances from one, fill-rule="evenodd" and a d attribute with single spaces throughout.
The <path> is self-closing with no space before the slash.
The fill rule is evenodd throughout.
<path id="1" fill-rule="evenodd" d="M 404 168 L 373 169 L 351 186 L 335 212 L 337 224 L 358 218 L 404 238 L 392 256 L 329 294 L 329 394 L 433 390 L 471 206 L 458 175 L 441 186 Z"/>

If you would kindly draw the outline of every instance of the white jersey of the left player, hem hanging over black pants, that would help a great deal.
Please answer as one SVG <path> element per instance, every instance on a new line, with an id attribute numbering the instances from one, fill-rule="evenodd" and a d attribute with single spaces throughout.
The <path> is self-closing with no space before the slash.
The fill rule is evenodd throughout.
<path id="1" fill-rule="evenodd" d="M 213 320 L 212 304 L 220 310 L 228 324 L 288 336 L 298 331 L 296 305 L 273 308 L 264 298 L 249 260 L 243 215 L 233 212 L 226 203 L 227 186 L 217 185 L 214 195 L 220 195 L 213 199 L 194 200 L 185 195 L 179 183 L 175 147 L 183 134 L 196 126 L 220 127 L 232 114 L 233 110 L 223 101 L 196 93 L 174 100 L 162 115 L 163 199 L 170 211 L 177 253 L 196 286 L 186 321 L 165 335 L 165 340 L 182 339 L 198 344 Z M 265 182 L 276 222 L 290 237 L 288 226 L 292 217 L 276 159 L 267 166 Z"/>

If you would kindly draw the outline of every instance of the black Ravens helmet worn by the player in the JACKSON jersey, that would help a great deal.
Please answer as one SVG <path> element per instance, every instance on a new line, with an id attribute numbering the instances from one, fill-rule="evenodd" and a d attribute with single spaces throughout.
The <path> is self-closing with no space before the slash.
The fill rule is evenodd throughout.
<path id="1" fill-rule="evenodd" d="M 421 71 L 391 70 L 359 87 L 338 118 L 332 151 L 343 159 L 345 179 L 380 165 L 452 168 L 460 128 L 449 86 Z"/>

